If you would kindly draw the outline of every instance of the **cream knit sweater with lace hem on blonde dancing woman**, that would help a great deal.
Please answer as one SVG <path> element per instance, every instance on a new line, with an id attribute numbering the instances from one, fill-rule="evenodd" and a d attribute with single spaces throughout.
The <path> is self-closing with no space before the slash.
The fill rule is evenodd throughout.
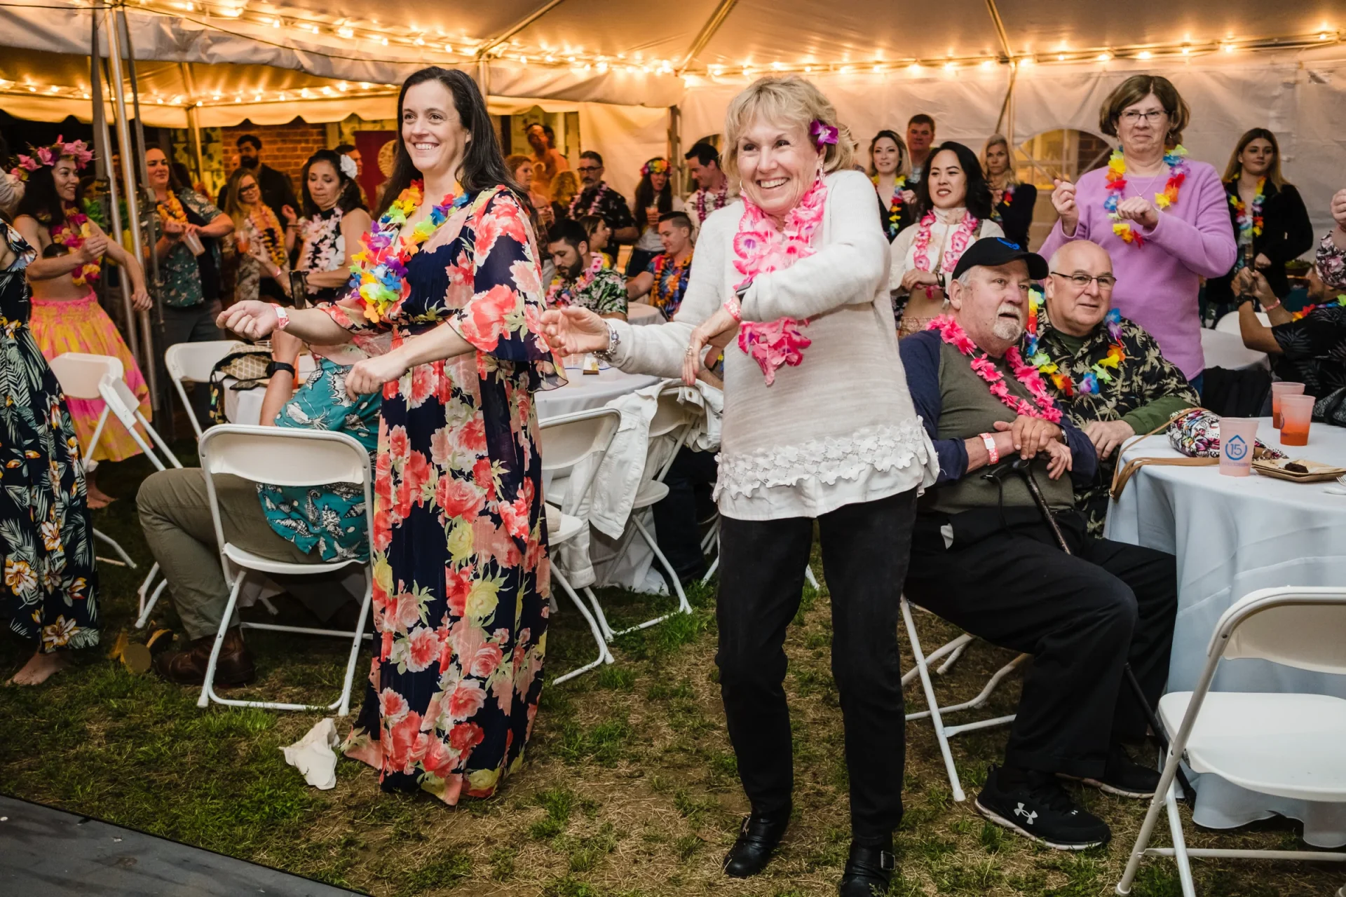
<path id="1" fill-rule="evenodd" d="M 720 512 L 748 520 L 818 516 L 934 483 L 934 451 L 911 406 L 888 299 L 888 242 L 874 186 L 855 171 L 826 178 L 817 250 L 756 277 L 744 321 L 809 319 L 804 363 L 762 368 L 730 343 L 724 354 Z M 686 295 L 662 327 L 614 321 L 625 371 L 678 377 L 693 327 L 734 295 L 734 235 L 742 200 L 707 217 Z"/>

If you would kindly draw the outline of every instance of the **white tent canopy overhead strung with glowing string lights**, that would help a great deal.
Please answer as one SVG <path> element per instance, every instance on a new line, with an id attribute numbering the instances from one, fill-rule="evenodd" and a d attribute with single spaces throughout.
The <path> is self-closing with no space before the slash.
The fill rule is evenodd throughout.
<path id="1" fill-rule="evenodd" d="M 51 118 L 38 114 L 43 104 L 87 109 L 79 67 L 87 71 L 94 9 L 82 4 L 0 8 L 0 46 L 66 59 L 16 52 L 0 61 L 0 79 L 13 82 L 0 81 L 7 110 Z M 599 149 L 610 179 L 627 188 L 643 159 L 666 152 L 668 106 L 681 110 L 686 147 L 719 132 L 730 97 L 762 73 L 816 78 L 861 143 L 927 112 L 940 137 L 980 148 L 997 126 L 1016 140 L 1061 128 L 1097 132 L 1108 90 L 1145 70 L 1168 75 L 1193 106 L 1186 144 L 1197 159 L 1222 167 L 1250 126 L 1280 134 L 1285 173 L 1315 223 L 1326 221 L 1326 198 L 1346 169 L 1346 145 L 1333 129 L 1346 121 L 1346 13 L 1333 0 L 1132 0 L 1116 15 L 1057 0 L 938 8 L 688 0 L 677 15 L 625 0 L 413 9 L 390 17 L 376 0 L 346 0 L 339 11 L 327 0 L 139 0 L 127 15 L 143 61 L 145 121 L 180 126 L 188 106 L 201 125 L 390 117 L 409 71 L 444 65 L 476 77 L 493 112 L 579 110 L 586 148 Z M 50 83 L 23 81 L 48 70 Z"/>

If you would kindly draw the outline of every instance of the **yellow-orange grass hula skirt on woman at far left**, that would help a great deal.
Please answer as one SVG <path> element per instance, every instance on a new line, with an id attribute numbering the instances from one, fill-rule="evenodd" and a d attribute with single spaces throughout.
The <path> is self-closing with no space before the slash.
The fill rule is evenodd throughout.
<path id="1" fill-rule="evenodd" d="M 149 387 L 140 374 L 140 366 L 121 339 L 117 325 L 102 311 L 98 299 L 90 292 L 83 299 L 36 299 L 32 300 L 32 319 L 28 321 L 32 336 L 38 340 L 38 348 L 50 362 L 57 355 L 66 352 L 87 352 L 89 355 L 112 355 L 120 358 L 125 368 L 127 386 L 140 399 L 140 413 L 149 417 Z M 75 424 L 75 436 L 79 437 L 79 446 L 89 448 L 89 440 L 98 426 L 98 416 L 102 414 L 104 401 L 101 398 L 85 399 L 66 397 L 70 406 L 70 417 Z M 109 416 L 110 417 L 110 416 Z M 94 449 L 93 460 L 121 461 L 135 455 L 140 455 L 127 429 L 116 420 L 109 420 L 98 437 L 98 446 Z"/>

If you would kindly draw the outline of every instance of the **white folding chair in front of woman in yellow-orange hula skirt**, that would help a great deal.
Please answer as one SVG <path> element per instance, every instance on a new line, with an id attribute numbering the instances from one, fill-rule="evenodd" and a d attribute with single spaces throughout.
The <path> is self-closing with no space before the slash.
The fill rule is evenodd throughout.
<path id="1" fill-rule="evenodd" d="M 159 468 L 164 469 L 163 461 L 155 455 L 155 451 L 149 448 L 144 437 L 136 430 L 139 424 L 144 428 L 149 438 L 155 441 L 159 451 L 163 452 L 164 457 L 174 467 L 182 467 L 178 457 L 168 449 L 168 445 L 159 436 L 155 428 L 149 426 L 149 421 L 145 416 L 140 413 L 140 399 L 136 394 L 131 391 L 127 386 L 125 367 L 121 364 L 121 359 L 113 355 L 90 355 L 89 352 L 62 352 L 57 355 L 50 362 L 51 373 L 57 375 L 57 382 L 61 383 L 61 391 L 69 398 L 78 399 L 102 399 L 102 413 L 98 414 L 98 422 L 93 428 L 93 437 L 89 440 L 89 445 L 82 448 L 82 465 L 85 475 L 97 467 L 93 460 L 93 452 L 98 446 L 98 440 L 102 438 L 104 428 L 108 424 L 108 417 L 114 416 L 117 422 L 127 428 L 131 433 L 131 438 L 135 440 L 140 451 L 145 453 L 145 457 Z M 102 542 L 112 546 L 112 550 L 117 553 L 117 557 L 122 559 L 132 570 L 136 569 L 136 562 L 131 559 L 127 550 L 113 539 L 106 533 L 98 530 L 93 531 L 94 537 Z M 149 572 L 149 577 L 153 578 L 157 565 Z M 148 584 L 148 580 L 147 580 Z M 144 602 L 144 596 L 141 596 L 141 602 Z"/>

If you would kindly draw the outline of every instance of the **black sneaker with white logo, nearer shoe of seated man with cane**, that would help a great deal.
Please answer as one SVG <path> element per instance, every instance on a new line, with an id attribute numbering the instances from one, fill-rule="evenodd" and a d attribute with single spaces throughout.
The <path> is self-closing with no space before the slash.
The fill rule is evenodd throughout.
<path id="1" fill-rule="evenodd" d="M 1085 850 L 1108 843 L 1108 823 L 1075 806 L 1055 776 L 1028 772 L 1023 785 L 1001 787 L 991 767 L 977 795 L 977 812 L 991 822 L 1057 850 Z"/>

